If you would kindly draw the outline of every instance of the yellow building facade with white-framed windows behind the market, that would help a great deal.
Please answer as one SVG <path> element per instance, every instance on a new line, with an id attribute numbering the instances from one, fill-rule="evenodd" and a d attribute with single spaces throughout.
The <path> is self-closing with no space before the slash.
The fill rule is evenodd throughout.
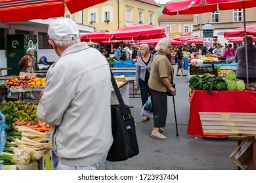
<path id="1" fill-rule="evenodd" d="M 108 0 L 65 16 L 95 31 L 114 31 L 133 24 L 158 25 L 158 5 L 154 0 Z"/>

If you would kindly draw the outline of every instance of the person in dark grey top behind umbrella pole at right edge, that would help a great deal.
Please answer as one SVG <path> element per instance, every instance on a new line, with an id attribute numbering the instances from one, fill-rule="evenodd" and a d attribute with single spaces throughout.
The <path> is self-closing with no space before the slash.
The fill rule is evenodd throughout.
<path id="1" fill-rule="evenodd" d="M 245 39 L 247 45 L 245 45 Z M 249 83 L 256 82 L 256 46 L 253 44 L 253 36 L 247 35 L 243 41 L 244 45 L 236 49 L 235 61 L 238 63 L 236 67 L 236 78 L 242 79 L 247 83 L 245 61 L 245 46 L 247 46 Z"/>

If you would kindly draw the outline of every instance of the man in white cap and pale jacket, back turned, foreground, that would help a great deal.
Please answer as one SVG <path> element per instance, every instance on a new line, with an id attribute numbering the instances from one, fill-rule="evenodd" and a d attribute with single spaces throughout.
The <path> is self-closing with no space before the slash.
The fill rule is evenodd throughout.
<path id="1" fill-rule="evenodd" d="M 113 142 L 108 62 L 80 41 L 79 28 L 70 18 L 51 22 L 48 35 L 60 58 L 47 73 L 37 116 L 51 125 L 57 169 L 104 169 Z"/>

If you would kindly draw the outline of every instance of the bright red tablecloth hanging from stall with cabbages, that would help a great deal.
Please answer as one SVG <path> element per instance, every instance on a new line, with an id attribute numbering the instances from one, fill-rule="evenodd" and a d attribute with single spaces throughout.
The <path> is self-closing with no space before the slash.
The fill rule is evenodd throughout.
<path id="1" fill-rule="evenodd" d="M 190 97 L 188 135 L 223 138 L 224 135 L 203 135 L 198 112 L 252 112 L 256 113 L 256 92 L 252 91 L 208 91 L 194 90 Z M 256 120 L 256 119 L 255 119 Z"/>

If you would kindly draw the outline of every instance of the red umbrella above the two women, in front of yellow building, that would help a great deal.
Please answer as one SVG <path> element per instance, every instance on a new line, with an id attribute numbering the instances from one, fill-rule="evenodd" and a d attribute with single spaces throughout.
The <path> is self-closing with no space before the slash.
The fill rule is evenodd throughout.
<path id="1" fill-rule="evenodd" d="M 134 24 L 127 27 L 122 27 L 120 29 L 116 29 L 115 31 L 111 31 L 106 33 L 106 37 L 112 38 L 115 37 L 116 39 L 152 39 L 154 38 L 161 38 L 166 37 L 165 35 L 165 27 L 156 27 L 153 25 L 140 25 Z"/>

